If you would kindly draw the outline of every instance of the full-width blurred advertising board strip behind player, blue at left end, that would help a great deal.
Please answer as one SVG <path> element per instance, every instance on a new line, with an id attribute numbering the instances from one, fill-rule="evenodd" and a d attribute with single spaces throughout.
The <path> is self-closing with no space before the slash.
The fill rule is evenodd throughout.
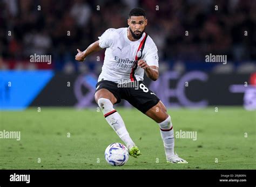
<path id="1" fill-rule="evenodd" d="M 244 105 L 256 109 L 254 74 L 211 74 L 205 71 L 165 71 L 157 81 L 144 82 L 166 107 Z M 28 106 L 97 107 L 94 100 L 97 75 L 63 74 L 51 70 L 0 71 L 0 110 Z M 130 107 L 126 101 L 118 106 Z"/>

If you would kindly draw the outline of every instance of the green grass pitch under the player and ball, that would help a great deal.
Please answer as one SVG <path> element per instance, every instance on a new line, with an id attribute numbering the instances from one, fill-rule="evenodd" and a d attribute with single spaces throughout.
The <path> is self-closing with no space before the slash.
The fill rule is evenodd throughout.
<path id="1" fill-rule="evenodd" d="M 122 141 L 101 111 L 41 107 L 41 112 L 0 111 L 0 131 L 21 131 L 20 141 L 0 139 L 0 169 L 256 169 L 255 111 L 168 110 L 174 135 L 179 130 L 197 132 L 196 141 L 175 139 L 175 151 L 188 164 L 166 163 L 159 126 L 152 119 L 136 109 L 117 111 L 143 153 L 138 159 L 130 156 L 122 167 L 104 159 L 105 148 Z"/>

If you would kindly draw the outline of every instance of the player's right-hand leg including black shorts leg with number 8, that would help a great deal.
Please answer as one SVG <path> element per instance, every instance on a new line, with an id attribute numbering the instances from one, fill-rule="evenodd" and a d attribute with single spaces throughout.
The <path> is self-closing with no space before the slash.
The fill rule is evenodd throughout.
<path id="1" fill-rule="evenodd" d="M 127 88 L 127 92 L 129 94 L 127 94 L 126 100 L 139 111 L 158 123 L 161 137 L 164 142 L 167 162 L 187 163 L 185 160 L 174 154 L 174 134 L 171 117 L 156 94 L 147 88 L 143 81 L 139 81 L 138 88 Z"/>

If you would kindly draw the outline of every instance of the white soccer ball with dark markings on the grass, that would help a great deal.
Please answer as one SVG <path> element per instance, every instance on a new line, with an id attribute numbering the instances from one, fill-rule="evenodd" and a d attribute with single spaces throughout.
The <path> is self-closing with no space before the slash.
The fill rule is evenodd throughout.
<path id="1" fill-rule="evenodd" d="M 123 166 L 129 159 L 128 149 L 122 143 L 112 143 L 105 150 L 105 159 L 111 166 Z"/>

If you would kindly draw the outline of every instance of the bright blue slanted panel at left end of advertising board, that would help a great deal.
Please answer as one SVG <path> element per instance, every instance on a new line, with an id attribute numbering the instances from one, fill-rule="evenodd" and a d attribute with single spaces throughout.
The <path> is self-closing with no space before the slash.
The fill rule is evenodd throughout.
<path id="1" fill-rule="evenodd" d="M 52 70 L 0 71 L 0 110 L 23 110 L 54 76 Z"/>

